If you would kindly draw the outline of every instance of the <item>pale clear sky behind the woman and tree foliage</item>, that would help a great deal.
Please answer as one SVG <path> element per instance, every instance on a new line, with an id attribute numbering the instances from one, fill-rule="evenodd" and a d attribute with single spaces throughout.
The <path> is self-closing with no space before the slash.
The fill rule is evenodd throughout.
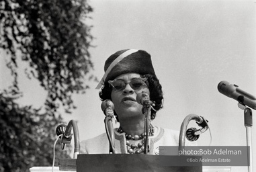
<path id="1" fill-rule="evenodd" d="M 95 37 L 95 47 L 89 49 L 94 64 L 91 73 L 101 79 L 105 60 L 118 50 L 146 50 L 164 92 L 164 107 L 157 112 L 153 125 L 179 130 L 187 115 L 197 114 L 209 121 L 212 146 L 247 145 L 243 110 L 237 101 L 219 93 L 217 86 L 228 81 L 256 95 L 255 1 L 89 3 L 94 11 L 92 19 L 85 22 L 93 25 L 91 34 Z M 9 82 L 3 58 L 0 67 L 2 88 Z M 26 64 L 20 62 L 19 67 Z M 22 73 L 19 83 L 24 97 L 19 102 L 40 107 L 46 93 L 37 81 L 26 79 Z M 105 132 L 99 90 L 94 89 L 97 83 L 89 85 L 87 93 L 73 97 L 77 110 L 62 114 L 67 122 L 77 120 L 80 140 Z M 190 125 L 199 128 L 196 122 Z M 198 145 L 210 144 L 210 132 L 200 135 Z M 255 145 L 255 126 L 252 133 Z M 256 148 L 253 156 L 256 158 Z"/>

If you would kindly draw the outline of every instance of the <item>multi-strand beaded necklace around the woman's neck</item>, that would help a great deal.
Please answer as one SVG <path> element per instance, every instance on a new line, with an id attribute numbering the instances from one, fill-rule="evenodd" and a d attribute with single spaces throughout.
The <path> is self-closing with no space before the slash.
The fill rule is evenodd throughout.
<path id="1" fill-rule="evenodd" d="M 125 133 L 122 128 L 118 128 L 118 132 L 120 134 L 122 133 Z M 148 136 L 154 136 L 154 133 L 155 133 L 155 128 L 152 126 L 152 124 L 149 124 L 149 134 Z M 141 154 L 144 152 L 144 133 L 140 134 L 140 136 L 138 135 L 130 135 L 130 134 L 126 134 L 125 133 L 125 136 L 126 136 L 126 148 L 127 148 L 127 152 L 130 153 L 130 154 Z M 139 140 L 139 139 L 142 139 L 141 142 L 139 142 L 137 144 L 137 146 L 135 144 L 130 144 L 130 141 L 129 140 Z M 148 150 L 149 151 L 149 150 Z"/>

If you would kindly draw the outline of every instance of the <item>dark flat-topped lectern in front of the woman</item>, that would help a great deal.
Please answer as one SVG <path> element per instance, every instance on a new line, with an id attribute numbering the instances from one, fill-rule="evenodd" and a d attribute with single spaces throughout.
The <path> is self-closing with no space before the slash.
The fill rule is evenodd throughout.
<path id="1" fill-rule="evenodd" d="M 194 156 L 98 154 L 78 155 L 77 159 L 60 159 L 60 171 L 157 171 L 157 172 L 200 172 L 202 163 L 185 166 L 187 158 Z"/>

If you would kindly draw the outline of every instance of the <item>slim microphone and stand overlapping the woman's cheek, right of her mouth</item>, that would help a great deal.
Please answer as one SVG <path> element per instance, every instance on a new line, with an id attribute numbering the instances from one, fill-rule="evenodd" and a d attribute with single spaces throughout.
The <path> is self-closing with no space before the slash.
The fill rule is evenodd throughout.
<path id="1" fill-rule="evenodd" d="M 143 114 L 145 114 L 145 120 L 144 120 L 144 154 L 148 154 L 149 150 L 148 150 L 148 145 L 149 145 L 149 140 L 148 140 L 148 136 L 149 136 L 149 124 L 150 124 L 150 116 L 151 116 L 151 104 L 152 101 L 150 100 L 146 100 L 146 102 L 144 102 L 144 105 L 142 107 L 142 112 Z M 145 136 L 146 134 L 146 136 Z"/>

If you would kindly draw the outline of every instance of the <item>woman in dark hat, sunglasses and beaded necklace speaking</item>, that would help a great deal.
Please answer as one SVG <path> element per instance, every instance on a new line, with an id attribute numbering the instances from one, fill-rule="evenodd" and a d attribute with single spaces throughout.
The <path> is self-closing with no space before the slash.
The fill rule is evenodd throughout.
<path id="1" fill-rule="evenodd" d="M 114 129 L 116 153 L 144 153 L 145 114 L 136 101 L 140 93 L 146 93 L 153 102 L 150 120 L 163 107 L 163 91 L 151 61 L 144 50 L 120 50 L 112 54 L 104 66 L 105 74 L 97 85 L 102 101 L 114 103 L 114 115 L 120 127 Z M 159 155 L 159 146 L 178 146 L 179 132 L 148 124 L 148 154 Z M 110 151 L 106 133 L 81 142 L 80 153 L 104 154 Z"/>

